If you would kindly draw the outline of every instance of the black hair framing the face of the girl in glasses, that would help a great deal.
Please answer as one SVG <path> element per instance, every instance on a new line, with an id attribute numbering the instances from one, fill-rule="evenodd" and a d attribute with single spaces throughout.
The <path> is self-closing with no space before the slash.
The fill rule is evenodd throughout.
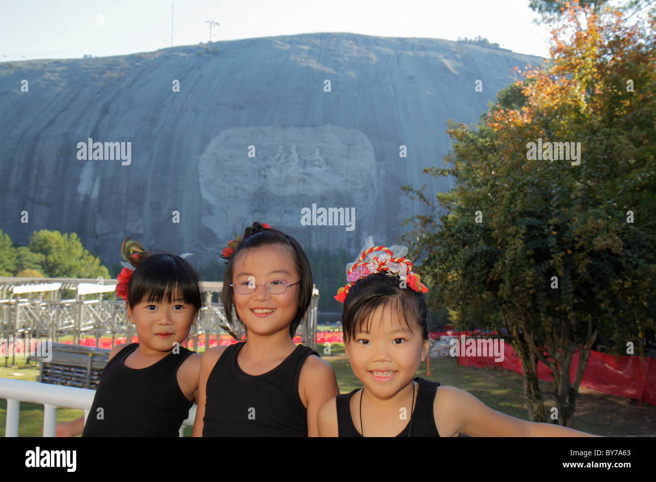
<path id="1" fill-rule="evenodd" d="M 268 226 L 268 225 L 266 225 Z M 299 285 L 298 285 L 298 304 L 300 305 L 296 311 L 296 316 L 294 317 L 291 325 L 289 326 L 289 336 L 294 338 L 296 329 L 300 325 L 300 321 L 305 316 L 308 306 L 310 306 L 310 301 L 312 300 L 312 269 L 310 268 L 310 261 L 308 256 L 306 256 L 305 251 L 298 244 L 298 241 L 283 233 L 282 231 L 276 230 L 274 228 L 267 228 L 262 226 L 258 222 L 254 222 L 253 226 L 246 228 L 244 231 L 243 239 L 239 241 L 234 252 L 228 257 L 228 264 L 226 265 L 226 271 L 223 275 L 223 292 L 221 293 L 221 298 L 223 301 L 223 308 L 226 312 L 226 318 L 228 323 L 233 329 L 236 329 L 237 321 L 243 325 L 243 322 L 239 319 L 234 319 L 232 316 L 232 306 L 234 304 L 234 290 L 230 288 L 232 284 L 232 275 L 234 271 L 235 260 L 240 252 L 246 251 L 248 249 L 255 249 L 263 246 L 282 246 L 287 249 L 289 254 L 294 260 L 294 267 L 296 268 L 299 276 Z M 234 244 L 232 244 L 234 246 Z M 226 256 L 222 256 L 226 258 Z"/>

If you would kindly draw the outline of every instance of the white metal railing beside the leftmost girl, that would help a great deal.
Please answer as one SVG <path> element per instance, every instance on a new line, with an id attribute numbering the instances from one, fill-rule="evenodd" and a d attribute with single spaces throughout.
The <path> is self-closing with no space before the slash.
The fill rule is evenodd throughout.
<path id="1" fill-rule="evenodd" d="M 89 416 L 95 390 L 87 388 L 66 387 L 26 380 L 0 378 L 0 398 L 7 399 L 7 421 L 5 437 L 18 437 L 18 416 L 20 402 L 39 403 L 43 405 L 43 436 L 54 437 L 57 423 L 57 407 L 84 411 L 85 420 Z M 189 417 L 182 422 L 180 437 L 185 426 L 194 426 L 196 405 L 189 410 Z"/>

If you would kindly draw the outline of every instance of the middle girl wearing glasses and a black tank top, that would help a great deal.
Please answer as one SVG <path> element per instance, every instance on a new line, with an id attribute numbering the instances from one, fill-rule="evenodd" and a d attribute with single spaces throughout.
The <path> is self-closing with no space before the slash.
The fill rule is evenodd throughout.
<path id="1" fill-rule="evenodd" d="M 339 393 L 331 365 L 292 338 L 312 298 L 296 239 L 253 223 L 223 251 L 223 306 L 246 342 L 203 353 L 194 437 L 318 435 L 317 414 Z"/>

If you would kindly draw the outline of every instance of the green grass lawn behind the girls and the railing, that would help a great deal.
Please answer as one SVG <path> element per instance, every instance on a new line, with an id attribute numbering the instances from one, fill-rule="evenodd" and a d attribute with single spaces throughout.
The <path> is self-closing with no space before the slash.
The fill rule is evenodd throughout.
<path id="1" fill-rule="evenodd" d="M 329 361 L 335 370 L 337 383 L 341 393 L 348 393 L 361 384 L 353 374 L 344 356 L 344 344 L 331 344 L 331 353 L 323 352 L 323 346 L 317 351 L 323 359 Z M 9 362 L 11 359 L 9 359 Z M 0 377 L 14 380 L 36 381 L 38 367 L 26 365 L 25 359 L 17 358 L 15 367 L 5 368 L 4 359 L 0 359 Z M 455 358 L 431 359 L 430 376 L 426 374 L 426 362 L 422 363 L 417 376 L 466 390 L 480 399 L 485 405 L 517 418 L 527 420 L 527 412 L 523 397 L 522 375 L 501 371 L 499 369 L 475 369 L 457 364 Z M 553 390 L 552 384 L 543 382 L 543 391 Z M 545 392 L 546 393 L 546 392 Z M 553 400 L 544 400 L 547 407 L 553 405 Z M 5 426 L 7 401 L 0 399 L 0 430 Z M 58 409 L 57 421 L 74 420 L 81 416 L 82 411 L 73 409 Z M 43 405 L 32 403 L 20 404 L 20 437 L 39 437 L 43 427 Z M 643 403 L 638 408 L 638 401 L 614 397 L 604 393 L 582 388 L 577 398 L 577 412 L 574 428 L 597 435 L 654 435 L 656 434 L 656 407 Z M 2 430 L 1 433 L 4 433 Z M 184 435 L 190 437 L 192 428 L 184 430 Z"/>

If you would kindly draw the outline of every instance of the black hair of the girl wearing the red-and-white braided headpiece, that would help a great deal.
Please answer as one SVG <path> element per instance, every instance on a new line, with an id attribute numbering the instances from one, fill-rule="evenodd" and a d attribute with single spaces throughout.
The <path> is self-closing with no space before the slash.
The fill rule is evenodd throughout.
<path id="1" fill-rule="evenodd" d="M 413 331 L 419 328 L 422 340 L 428 340 L 426 325 L 426 300 L 424 294 L 410 287 L 401 288 L 401 280 L 386 273 L 365 276 L 351 287 L 344 298 L 342 309 L 342 331 L 344 342 L 348 343 L 356 336 L 363 325 L 369 331 L 371 315 L 383 306 L 384 310 L 401 311 L 405 325 Z M 410 320 L 410 321 L 409 321 Z"/>

